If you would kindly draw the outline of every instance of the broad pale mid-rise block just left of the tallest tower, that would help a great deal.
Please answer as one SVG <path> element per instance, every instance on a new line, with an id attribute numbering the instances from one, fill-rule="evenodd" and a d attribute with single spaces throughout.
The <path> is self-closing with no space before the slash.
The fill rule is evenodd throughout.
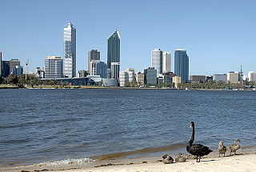
<path id="1" fill-rule="evenodd" d="M 48 56 L 45 60 L 46 78 L 63 78 L 63 59 L 59 56 Z"/>

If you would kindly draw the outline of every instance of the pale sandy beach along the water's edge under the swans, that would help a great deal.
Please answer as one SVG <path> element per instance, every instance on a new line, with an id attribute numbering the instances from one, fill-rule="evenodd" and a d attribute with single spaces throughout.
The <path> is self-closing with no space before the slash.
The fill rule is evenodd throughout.
<path id="1" fill-rule="evenodd" d="M 173 156 L 175 158 L 175 156 Z M 161 157 L 130 159 L 115 159 L 101 162 L 89 162 L 84 165 L 66 165 L 66 166 L 42 166 L 39 164 L 30 166 L 1 167 L 3 172 L 36 172 L 36 171 L 54 171 L 54 172 L 205 172 L 205 171 L 225 171 L 225 172 L 255 172 L 256 171 L 256 153 L 254 148 L 250 150 L 239 150 L 236 155 L 218 157 L 214 152 L 209 156 L 196 162 L 195 159 L 187 159 L 186 162 L 177 162 L 172 164 L 163 164 Z"/>

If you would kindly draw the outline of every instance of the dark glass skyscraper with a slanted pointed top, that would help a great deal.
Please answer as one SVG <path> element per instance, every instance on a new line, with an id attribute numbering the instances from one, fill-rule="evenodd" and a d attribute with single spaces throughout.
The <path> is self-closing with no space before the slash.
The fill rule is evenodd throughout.
<path id="1" fill-rule="evenodd" d="M 118 30 L 115 30 L 113 34 L 107 39 L 107 74 L 108 78 L 112 78 L 113 74 L 111 74 L 111 63 L 119 62 L 120 63 L 120 34 Z M 118 71 L 119 75 L 119 71 Z"/>

